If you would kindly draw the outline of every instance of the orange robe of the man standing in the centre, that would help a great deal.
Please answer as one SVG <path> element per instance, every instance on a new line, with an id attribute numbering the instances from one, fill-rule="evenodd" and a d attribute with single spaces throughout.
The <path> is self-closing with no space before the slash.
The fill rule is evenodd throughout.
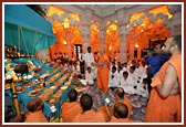
<path id="1" fill-rule="evenodd" d="M 102 64 L 104 61 L 106 61 L 107 63 L 110 63 L 108 56 L 107 54 L 103 54 L 100 60 L 99 60 L 99 64 Z M 104 93 L 107 92 L 108 88 L 108 68 L 110 65 L 107 65 L 107 67 L 97 67 L 97 87 L 103 89 Z"/>

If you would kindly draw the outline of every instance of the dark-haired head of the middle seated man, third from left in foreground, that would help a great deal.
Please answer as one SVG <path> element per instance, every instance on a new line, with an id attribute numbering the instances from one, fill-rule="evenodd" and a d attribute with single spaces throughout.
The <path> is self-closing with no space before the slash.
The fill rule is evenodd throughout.
<path id="1" fill-rule="evenodd" d="M 83 108 L 83 112 L 90 110 L 93 105 L 92 96 L 90 96 L 89 94 L 83 94 L 80 98 L 80 104 Z"/>

